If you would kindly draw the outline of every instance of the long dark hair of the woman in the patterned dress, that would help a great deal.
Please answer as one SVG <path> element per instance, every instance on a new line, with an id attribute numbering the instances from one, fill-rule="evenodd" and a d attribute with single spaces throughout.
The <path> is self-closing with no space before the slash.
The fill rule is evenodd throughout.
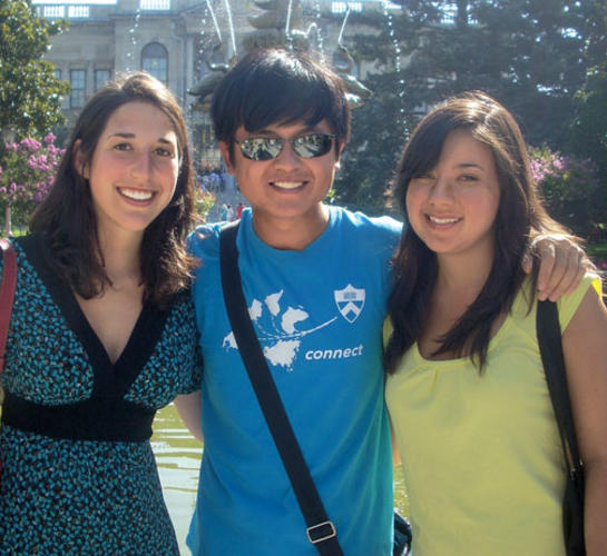
<path id="1" fill-rule="evenodd" d="M 195 222 L 194 171 L 183 111 L 172 92 L 145 72 L 128 73 L 95 93 L 86 103 L 71 132 L 66 153 L 48 197 L 33 214 L 30 230 L 43 236 L 49 262 L 85 299 L 99 296 L 111 285 L 97 232 L 97 217 L 84 169 L 110 116 L 128 102 L 148 102 L 163 111 L 175 129 L 179 150 L 179 176 L 168 206 L 146 228 L 141 244 L 144 301 L 158 308 L 189 284 L 195 261 L 185 240 Z M 77 159 L 76 142 L 81 159 Z M 77 160 L 80 167 L 76 168 Z"/>

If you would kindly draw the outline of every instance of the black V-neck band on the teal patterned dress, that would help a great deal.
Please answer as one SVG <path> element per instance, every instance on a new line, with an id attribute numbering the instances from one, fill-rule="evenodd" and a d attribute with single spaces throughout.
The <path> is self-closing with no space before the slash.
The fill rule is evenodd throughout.
<path id="1" fill-rule="evenodd" d="M 78 337 L 88 356 L 95 376 L 92 396 L 124 396 L 151 356 L 163 332 L 168 311 L 156 310 L 150 304 L 145 302 L 125 348 L 112 364 L 72 289 L 50 267 L 47 252 L 49 248 L 45 245 L 43 238 L 31 235 L 18 238 L 17 242 L 22 247 L 28 260 L 63 315 L 68 328 Z"/>

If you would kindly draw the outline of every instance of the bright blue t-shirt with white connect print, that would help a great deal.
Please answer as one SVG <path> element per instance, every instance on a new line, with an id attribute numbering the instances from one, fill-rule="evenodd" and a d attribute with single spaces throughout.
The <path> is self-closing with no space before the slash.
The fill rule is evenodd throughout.
<path id="1" fill-rule="evenodd" d="M 392 460 L 381 328 L 401 224 L 330 208 L 303 251 L 237 236 L 249 315 L 329 518 L 347 555 L 392 553 Z M 225 312 L 218 226 L 190 238 L 205 371 L 205 448 L 188 546 L 198 555 L 314 555 Z"/>

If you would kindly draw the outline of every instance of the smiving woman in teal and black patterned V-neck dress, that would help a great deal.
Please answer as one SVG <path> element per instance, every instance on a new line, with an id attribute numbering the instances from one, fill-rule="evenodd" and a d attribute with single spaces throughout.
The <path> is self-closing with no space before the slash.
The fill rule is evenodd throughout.
<path id="1" fill-rule="evenodd" d="M 149 437 L 199 388 L 193 176 L 180 108 L 131 73 L 84 108 L 14 240 L 0 554 L 178 554 Z"/>

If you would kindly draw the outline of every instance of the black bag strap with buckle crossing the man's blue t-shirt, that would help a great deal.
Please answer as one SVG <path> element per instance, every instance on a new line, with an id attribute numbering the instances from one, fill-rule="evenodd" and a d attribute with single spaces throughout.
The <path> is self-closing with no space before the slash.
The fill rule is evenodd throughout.
<path id="1" fill-rule="evenodd" d="M 340 556 L 343 553 L 335 526 L 314 486 L 248 315 L 238 270 L 237 232 L 236 221 L 222 228 L 219 236 L 222 288 L 232 331 L 307 525 L 307 539 L 321 555 Z"/>

